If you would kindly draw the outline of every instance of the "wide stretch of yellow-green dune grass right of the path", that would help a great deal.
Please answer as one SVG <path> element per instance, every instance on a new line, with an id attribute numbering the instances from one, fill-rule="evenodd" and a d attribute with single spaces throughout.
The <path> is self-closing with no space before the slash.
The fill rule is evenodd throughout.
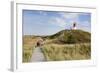
<path id="1" fill-rule="evenodd" d="M 47 61 L 84 60 L 91 58 L 90 44 L 44 45 L 42 51 Z"/>

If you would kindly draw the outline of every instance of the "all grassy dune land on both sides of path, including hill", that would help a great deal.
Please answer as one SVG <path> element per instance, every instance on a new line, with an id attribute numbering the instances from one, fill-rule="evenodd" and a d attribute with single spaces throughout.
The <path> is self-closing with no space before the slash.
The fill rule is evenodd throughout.
<path id="1" fill-rule="evenodd" d="M 42 38 L 42 52 L 47 61 L 83 60 L 91 58 L 91 33 L 62 30 L 51 36 L 23 36 L 23 62 L 29 62 L 37 40 Z"/>

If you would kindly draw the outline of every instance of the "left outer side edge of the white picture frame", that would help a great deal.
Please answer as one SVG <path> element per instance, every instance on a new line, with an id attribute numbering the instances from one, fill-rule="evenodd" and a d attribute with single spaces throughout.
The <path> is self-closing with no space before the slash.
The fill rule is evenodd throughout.
<path id="1" fill-rule="evenodd" d="M 16 3 L 11 1 L 11 71 L 17 69 L 16 44 Z"/>

